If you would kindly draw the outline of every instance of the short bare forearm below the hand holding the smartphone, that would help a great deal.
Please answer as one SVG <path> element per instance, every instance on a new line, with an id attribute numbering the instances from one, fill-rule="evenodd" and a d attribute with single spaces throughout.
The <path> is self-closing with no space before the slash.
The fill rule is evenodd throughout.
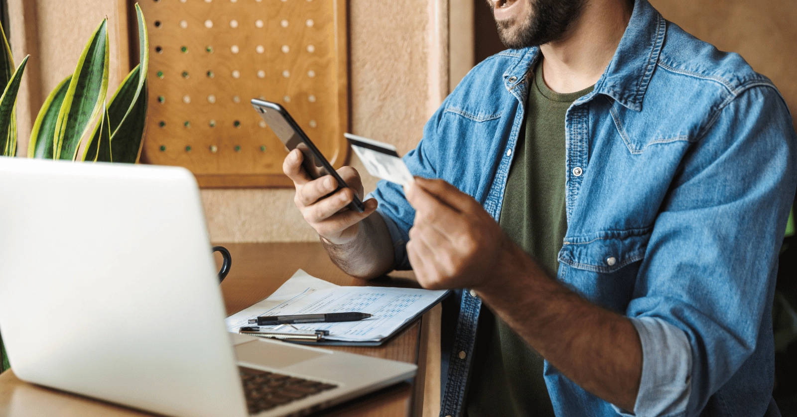
<path id="1" fill-rule="evenodd" d="M 346 244 L 332 244 L 321 238 L 330 259 L 348 275 L 371 279 L 388 272 L 393 265 L 393 242 L 379 212 L 359 222 L 357 236 Z"/>

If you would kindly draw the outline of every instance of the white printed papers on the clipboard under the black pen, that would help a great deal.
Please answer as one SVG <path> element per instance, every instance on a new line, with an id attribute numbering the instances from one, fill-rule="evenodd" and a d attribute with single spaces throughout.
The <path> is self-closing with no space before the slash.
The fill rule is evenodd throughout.
<path id="1" fill-rule="evenodd" d="M 275 329 L 280 333 L 327 330 L 329 334 L 324 337 L 327 341 L 382 341 L 434 306 L 447 292 L 384 286 L 337 286 L 299 270 L 269 298 L 228 317 L 226 325 L 230 332 L 238 333 L 241 326 L 249 326 L 249 319 L 257 316 L 355 311 L 373 316 L 358 322 L 261 326 L 261 329 Z"/>

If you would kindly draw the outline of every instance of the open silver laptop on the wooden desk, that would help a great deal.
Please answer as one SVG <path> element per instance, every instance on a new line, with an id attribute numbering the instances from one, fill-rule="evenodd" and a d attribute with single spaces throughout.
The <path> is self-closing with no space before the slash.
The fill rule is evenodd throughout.
<path id="1" fill-rule="evenodd" d="M 0 158 L 0 330 L 21 380 L 162 415 L 304 415 L 416 366 L 228 333 L 193 175 Z"/>

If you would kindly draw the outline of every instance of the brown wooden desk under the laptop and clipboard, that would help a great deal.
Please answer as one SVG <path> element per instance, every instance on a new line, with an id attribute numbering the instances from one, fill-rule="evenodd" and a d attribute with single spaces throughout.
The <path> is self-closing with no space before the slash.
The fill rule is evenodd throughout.
<path id="1" fill-rule="evenodd" d="M 338 285 L 374 284 L 344 274 L 332 264 L 324 248 L 317 243 L 222 243 L 222 245 L 227 247 L 233 256 L 230 275 L 222 283 L 227 314 L 234 314 L 268 297 L 299 268 L 310 275 Z M 217 263 L 220 263 L 220 258 L 218 256 Z M 386 286 L 412 286 L 413 283 L 410 275 L 406 274 L 397 274 L 395 277 L 391 275 L 391 279 L 378 279 L 375 282 L 376 285 Z M 324 417 L 437 415 L 440 393 L 440 311 L 440 306 L 435 307 L 421 320 L 410 325 L 383 346 L 329 347 L 328 349 L 418 364 L 418 378 L 414 384 L 398 384 L 322 411 L 317 415 Z M 6 415 L 132 417 L 149 414 L 27 384 L 14 376 L 13 370 L 9 370 L 0 375 L 0 416 Z"/>

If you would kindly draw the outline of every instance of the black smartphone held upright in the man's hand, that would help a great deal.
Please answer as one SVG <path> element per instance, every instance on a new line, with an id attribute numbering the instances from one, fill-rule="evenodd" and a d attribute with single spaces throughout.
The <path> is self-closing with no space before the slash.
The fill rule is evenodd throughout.
<path id="1" fill-rule="evenodd" d="M 332 175 L 338 181 L 338 188 L 332 193 L 335 193 L 338 189 L 348 187 L 344 179 L 332 168 L 332 164 L 327 161 L 327 158 L 324 158 L 324 155 L 313 145 L 307 134 L 304 134 L 304 131 L 296 124 L 296 121 L 288 114 L 285 107 L 278 103 L 271 103 L 261 99 L 252 99 L 252 106 L 260 114 L 260 117 L 265 120 L 265 123 L 271 127 L 274 134 L 277 134 L 277 138 L 280 138 L 288 150 L 298 148 L 301 151 L 304 155 L 302 167 L 309 177 L 316 179 L 327 174 Z M 357 212 L 365 211 L 363 201 L 359 200 L 356 193 L 354 199 L 347 207 Z"/>

